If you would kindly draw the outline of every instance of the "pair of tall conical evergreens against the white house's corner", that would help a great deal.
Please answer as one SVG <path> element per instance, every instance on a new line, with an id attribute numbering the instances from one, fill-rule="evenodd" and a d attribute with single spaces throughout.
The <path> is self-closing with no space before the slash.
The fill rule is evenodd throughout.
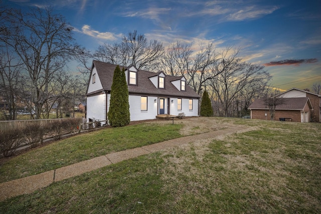
<path id="1" fill-rule="evenodd" d="M 125 70 L 117 65 L 112 79 L 108 120 L 112 127 L 121 127 L 130 122 L 129 94 Z"/>

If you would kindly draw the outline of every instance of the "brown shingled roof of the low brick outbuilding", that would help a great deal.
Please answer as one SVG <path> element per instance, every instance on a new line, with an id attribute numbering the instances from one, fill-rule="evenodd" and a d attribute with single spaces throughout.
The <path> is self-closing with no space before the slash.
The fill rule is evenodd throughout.
<path id="1" fill-rule="evenodd" d="M 295 97 L 295 98 L 282 98 L 283 104 L 277 105 L 276 110 L 303 110 L 306 103 L 308 103 L 310 109 L 311 103 L 308 97 Z M 248 109 L 268 109 L 264 99 L 256 99 Z"/>

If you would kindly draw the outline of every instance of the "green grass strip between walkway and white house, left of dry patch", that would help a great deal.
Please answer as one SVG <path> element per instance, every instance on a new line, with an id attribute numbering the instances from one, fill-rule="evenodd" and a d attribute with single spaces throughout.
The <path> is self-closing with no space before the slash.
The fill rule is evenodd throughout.
<path id="1" fill-rule="evenodd" d="M 0 183 L 67 166 L 115 151 L 181 137 L 182 124 L 137 124 L 104 128 L 53 142 L 0 166 Z"/>

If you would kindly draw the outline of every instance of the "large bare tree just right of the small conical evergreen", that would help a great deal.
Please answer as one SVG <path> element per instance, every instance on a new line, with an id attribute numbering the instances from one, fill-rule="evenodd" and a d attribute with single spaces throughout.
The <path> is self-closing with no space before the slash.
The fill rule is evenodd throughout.
<path id="1" fill-rule="evenodd" d="M 264 71 L 263 66 L 242 62 L 239 53 L 240 49 L 232 51 L 231 47 L 223 50 L 220 62 L 215 66 L 217 75 L 210 80 L 210 87 L 215 92 L 216 99 L 222 104 L 225 117 L 231 116 L 230 108 L 232 105 L 238 105 L 241 96 L 245 96 L 242 108 L 249 105 L 254 97 L 253 93 L 248 93 L 246 90 L 256 90 L 257 93 L 257 89 L 264 89 L 271 79 L 271 75 Z"/>

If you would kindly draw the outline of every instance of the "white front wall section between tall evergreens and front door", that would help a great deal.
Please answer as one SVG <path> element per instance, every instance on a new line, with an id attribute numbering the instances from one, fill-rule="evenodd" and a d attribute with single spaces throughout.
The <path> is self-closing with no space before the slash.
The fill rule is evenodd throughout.
<path id="1" fill-rule="evenodd" d="M 147 97 L 147 111 L 140 110 L 140 97 L 129 96 L 130 121 L 155 119 L 157 115 L 157 97 Z"/>

